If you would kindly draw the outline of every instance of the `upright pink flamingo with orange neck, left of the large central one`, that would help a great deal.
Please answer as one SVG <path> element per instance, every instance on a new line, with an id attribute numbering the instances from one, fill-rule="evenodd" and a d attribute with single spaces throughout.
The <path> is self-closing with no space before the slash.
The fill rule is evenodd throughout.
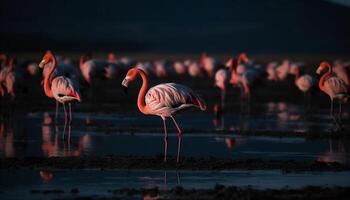
<path id="1" fill-rule="evenodd" d="M 72 110 L 71 110 L 71 102 L 72 101 L 81 101 L 81 95 L 79 92 L 78 85 L 73 82 L 70 78 L 65 76 L 57 76 L 52 78 L 52 75 L 57 67 L 57 61 L 54 54 L 49 50 L 45 53 L 42 61 L 39 64 L 40 68 L 47 67 L 48 63 L 52 63 L 52 67 L 48 72 L 48 75 L 44 78 L 44 92 L 47 97 L 56 99 L 57 102 L 63 104 L 64 109 L 64 119 L 65 119 L 65 127 L 68 123 L 68 114 L 66 111 L 65 104 L 68 103 L 69 107 L 69 124 L 72 122 Z M 63 138 L 65 133 L 63 133 Z"/>

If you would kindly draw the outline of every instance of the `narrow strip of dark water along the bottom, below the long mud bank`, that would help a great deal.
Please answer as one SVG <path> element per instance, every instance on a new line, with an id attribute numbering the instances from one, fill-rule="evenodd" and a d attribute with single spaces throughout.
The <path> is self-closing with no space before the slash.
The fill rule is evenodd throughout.
<path id="1" fill-rule="evenodd" d="M 80 195 L 110 195 L 121 188 L 213 188 L 227 186 L 265 188 L 300 188 L 314 186 L 350 186 L 350 172 L 282 173 L 278 170 L 256 171 L 31 171 L 1 170 L 1 199 L 41 199 L 49 195 L 32 194 L 31 190 L 62 190 L 69 195 L 78 188 Z M 22 194 L 18 196 L 18 194 Z M 68 194 L 67 194 L 68 193 Z"/>

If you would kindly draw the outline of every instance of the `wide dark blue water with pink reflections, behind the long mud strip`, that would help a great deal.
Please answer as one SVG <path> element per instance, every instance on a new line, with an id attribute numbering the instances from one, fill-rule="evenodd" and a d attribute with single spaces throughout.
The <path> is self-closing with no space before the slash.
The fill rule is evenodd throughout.
<path id="1" fill-rule="evenodd" d="M 233 159 L 319 160 L 349 163 L 349 141 L 307 140 L 303 137 L 238 135 L 238 130 L 294 131 L 325 130 L 332 126 L 326 114 L 309 114 L 301 106 L 268 103 L 265 114 L 225 114 L 217 124 L 212 114 L 179 115 L 183 128 L 183 156 L 215 156 Z M 326 112 L 325 112 L 326 113 Z M 139 113 L 75 113 L 71 140 L 62 140 L 63 127 L 53 126 L 53 113 L 18 114 L 1 124 L 0 156 L 159 155 L 163 153 L 163 129 L 159 117 Z M 62 116 L 62 113 L 60 113 Z M 347 113 L 344 113 L 346 116 Z M 59 119 L 62 122 L 62 119 Z M 59 123 L 59 124 L 63 124 Z M 231 130 L 225 134 L 215 129 Z M 187 132 L 186 132 L 187 131 Z M 169 154 L 176 153 L 177 134 L 168 120 Z M 324 133 L 327 134 L 327 133 Z"/>

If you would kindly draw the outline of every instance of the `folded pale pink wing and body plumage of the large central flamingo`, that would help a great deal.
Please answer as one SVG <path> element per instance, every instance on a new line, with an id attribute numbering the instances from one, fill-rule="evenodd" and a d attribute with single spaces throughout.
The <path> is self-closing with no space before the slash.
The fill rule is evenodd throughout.
<path id="1" fill-rule="evenodd" d="M 205 102 L 190 88 L 175 83 L 159 84 L 150 88 L 145 96 L 145 103 L 151 114 L 162 116 L 169 116 L 191 106 L 206 109 Z"/>

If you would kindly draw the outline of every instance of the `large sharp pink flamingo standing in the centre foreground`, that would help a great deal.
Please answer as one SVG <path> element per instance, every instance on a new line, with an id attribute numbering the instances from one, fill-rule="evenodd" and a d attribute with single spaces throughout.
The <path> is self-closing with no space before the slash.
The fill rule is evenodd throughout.
<path id="1" fill-rule="evenodd" d="M 190 88 L 176 84 L 164 83 L 148 89 L 147 74 L 139 67 L 134 67 L 126 74 L 122 85 L 125 91 L 129 83 L 133 82 L 137 76 L 142 78 L 142 86 L 137 98 L 137 106 L 145 115 L 158 115 L 163 120 L 164 125 L 164 161 L 167 159 L 168 135 L 166 128 L 166 117 L 170 117 L 178 130 L 177 162 L 181 147 L 181 129 L 177 124 L 174 114 L 188 107 L 197 107 L 202 111 L 206 110 L 206 103 Z"/>

